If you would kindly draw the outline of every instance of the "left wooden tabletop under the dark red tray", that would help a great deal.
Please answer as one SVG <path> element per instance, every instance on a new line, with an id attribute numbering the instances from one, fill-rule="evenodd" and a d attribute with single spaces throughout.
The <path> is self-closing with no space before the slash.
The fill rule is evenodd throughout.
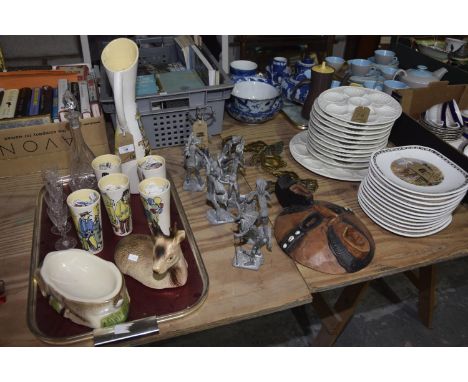
<path id="1" fill-rule="evenodd" d="M 227 123 L 225 134 L 242 134 L 249 128 Z M 213 139 L 219 146 L 221 137 Z M 209 277 L 208 296 L 194 313 L 160 323 L 160 334 L 132 344 L 148 343 L 181 334 L 209 329 L 311 301 L 309 290 L 295 263 L 275 246 L 265 253 L 258 272 L 234 268 L 232 224 L 213 226 L 206 219 L 206 194 L 182 190 L 184 170 L 182 147 L 157 152 L 166 158 L 168 171 L 184 205 Z M 241 177 L 242 192 L 250 191 Z M 0 279 L 5 280 L 7 303 L 0 305 L 0 345 L 44 345 L 26 324 L 29 264 L 36 196 L 40 174 L 0 179 Z M 80 343 L 91 345 L 91 343 Z"/>

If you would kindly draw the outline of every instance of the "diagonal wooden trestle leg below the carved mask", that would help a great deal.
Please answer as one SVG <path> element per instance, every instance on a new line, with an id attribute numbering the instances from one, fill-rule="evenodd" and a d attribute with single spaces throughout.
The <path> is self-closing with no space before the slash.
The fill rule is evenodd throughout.
<path id="1" fill-rule="evenodd" d="M 353 316 L 359 299 L 368 285 L 368 282 L 364 282 L 345 287 L 333 309 L 327 305 L 320 293 L 312 295 L 312 305 L 322 321 L 320 331 L 312 340 L 312 345 L 332 346 L 336 342 Z"/>

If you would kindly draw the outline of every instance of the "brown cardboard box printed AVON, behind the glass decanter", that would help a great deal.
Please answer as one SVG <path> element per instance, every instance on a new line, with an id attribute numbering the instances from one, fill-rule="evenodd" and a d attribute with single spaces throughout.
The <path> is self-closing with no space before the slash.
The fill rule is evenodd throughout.
<path id="1" fill-rule="evenodd" d="M 81 130 L 96 156 L 110 152 L 103 117 L 81 120 Z M 0 130 L 0 176 L 30 174 L 54 165 L 68 169 L 71 144 L 68 123 Z"/>

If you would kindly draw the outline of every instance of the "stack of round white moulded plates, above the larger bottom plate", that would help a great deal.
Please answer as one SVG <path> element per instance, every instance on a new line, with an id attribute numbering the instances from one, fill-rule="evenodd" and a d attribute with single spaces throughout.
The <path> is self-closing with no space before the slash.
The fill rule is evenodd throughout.
<path id="1" fill-rule="evenodd" d="M 370 109 L 365 123 L 351 121 L 358 106 Z M 307 150 L 330 166 L 366 169 L 371 154 L 387 145 L 400 115 L 400 104 L 378 90 L 354 86 L 329 89 L 312 107 Z"/>

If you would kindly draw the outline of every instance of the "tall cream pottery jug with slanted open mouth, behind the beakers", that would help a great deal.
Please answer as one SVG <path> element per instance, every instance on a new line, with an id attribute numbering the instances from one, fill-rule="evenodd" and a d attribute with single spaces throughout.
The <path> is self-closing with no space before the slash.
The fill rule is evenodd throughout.
<path id="1" fill-rule="evenodd" d="M 117 155 L 135 152 L 135 158 L 122 161 L 122 172 L 130 180 L 130 192 L 138 194 L 137 159 L 143 158 L 148 147 L 144 132 L 137 121 L 135 102 L 135 83 L 138 67 L 138 46 L 128 38 L 118 38 L 106 45 L 101 54 L 101 61 L 106 69 L 107 77 L 114 92 L 115 109 L 117 112 L 116 147 Z M 131 144 L 118 146 L 118 134 L 130 133 Z"/>

